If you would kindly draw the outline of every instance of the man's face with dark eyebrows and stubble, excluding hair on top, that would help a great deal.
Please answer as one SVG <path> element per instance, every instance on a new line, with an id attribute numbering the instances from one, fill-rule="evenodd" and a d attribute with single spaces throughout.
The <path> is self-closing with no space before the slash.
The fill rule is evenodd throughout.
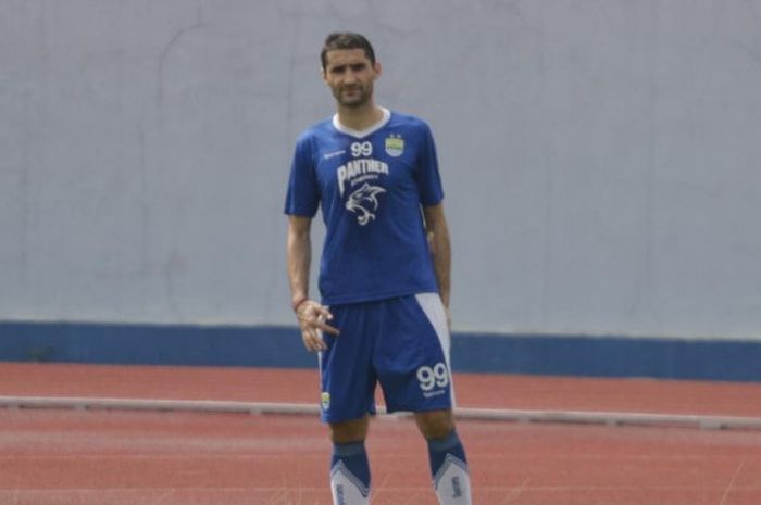
<path id="1" fill-rule="evenodd" d="M 336 49 L 326 54 L 323 79 L 336 101 L 348 108 L 366 104 L 373 97 L 373 83 L 380 75 L 380 64 L 373 65 L 363 49 Z"/>

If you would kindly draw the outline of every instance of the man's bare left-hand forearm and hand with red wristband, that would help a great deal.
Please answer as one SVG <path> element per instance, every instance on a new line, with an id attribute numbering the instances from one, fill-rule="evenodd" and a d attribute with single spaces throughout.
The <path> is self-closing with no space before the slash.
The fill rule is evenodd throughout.
<path id="1" fill-rule="evenodd" d="M 319 330 L 333 334 L 338 334 L 338 330 L 325 324 L 325 320 L 333 318 L 327 307 L 309 299 L 309 268 L 312 261 L 311 227 L 311 217 L 288 216 L 286 263 L 290 282 L 290 303 L 299 320 L 304 346 L 310 351 L 324 351 L 326 345 Z"/>

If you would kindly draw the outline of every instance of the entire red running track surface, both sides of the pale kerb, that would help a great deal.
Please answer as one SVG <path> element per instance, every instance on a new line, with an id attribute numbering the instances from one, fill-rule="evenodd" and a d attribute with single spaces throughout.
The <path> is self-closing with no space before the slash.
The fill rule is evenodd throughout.
<path id="1" fill-rule="evenodd" d="M 0 395 L 312 402 L 305 370 L 0 365 Z M 463 406 L 758 416 L 760 384 L 458 376 Z M 758 505 L 761 432 L 462 420 L 478 505 Z M 371 428 L 374 505 L 435 505 L 409 419 Z M 329 505 L 311 416 L 0 409 L 0 504 Z"/>

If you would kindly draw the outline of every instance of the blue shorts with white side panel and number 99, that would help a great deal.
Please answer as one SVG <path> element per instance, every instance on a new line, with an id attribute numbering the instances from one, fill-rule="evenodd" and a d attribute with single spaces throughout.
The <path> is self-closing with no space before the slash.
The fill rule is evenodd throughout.
<path id="1" fill-rule="evenodd" d="M 425 412 L 454 404 L 450 336 L 441 299 L 422 293 L 330 307 L 338 337 L 320 353 L 322 419 L 375 413 L 380 383 L 387 412 Z"/>

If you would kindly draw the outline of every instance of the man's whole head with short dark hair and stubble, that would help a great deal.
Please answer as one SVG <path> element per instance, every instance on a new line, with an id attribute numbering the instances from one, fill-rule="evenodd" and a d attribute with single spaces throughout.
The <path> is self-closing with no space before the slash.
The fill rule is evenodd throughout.
<path id="1" fill-rule="evenodd" d="M 320 58 L 323 79 L 339 106 L 372 104 L 373 83 L 380 76 L 380 64 L 366 38 L 351 33 L 330 34 Z"/>

